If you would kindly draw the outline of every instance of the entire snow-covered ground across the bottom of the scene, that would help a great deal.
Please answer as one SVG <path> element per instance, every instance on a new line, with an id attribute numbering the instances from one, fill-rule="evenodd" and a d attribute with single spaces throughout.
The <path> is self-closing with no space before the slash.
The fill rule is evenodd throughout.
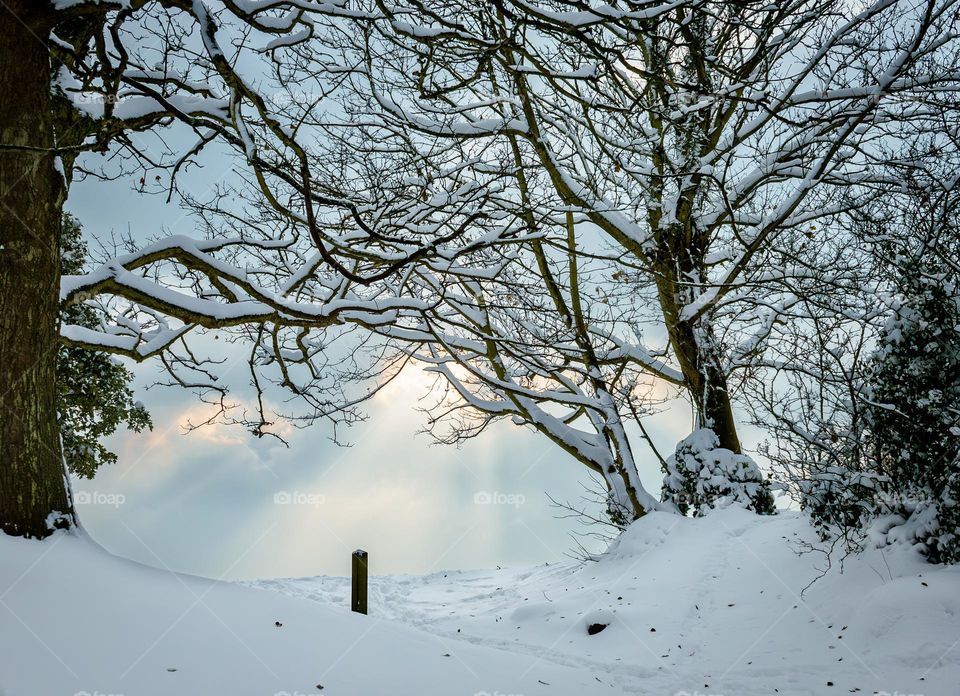
<path id="1" fill-rule="evenodd" d="M 371 578 L 366 617 L 345 578 L 0 538 L 0 694 L 960 694 L 960 568 L 874 550 L 801 596 L 825 562 L 796 553 L 809 538 L 793 513 L 657 513 L 597 562 Z"/>

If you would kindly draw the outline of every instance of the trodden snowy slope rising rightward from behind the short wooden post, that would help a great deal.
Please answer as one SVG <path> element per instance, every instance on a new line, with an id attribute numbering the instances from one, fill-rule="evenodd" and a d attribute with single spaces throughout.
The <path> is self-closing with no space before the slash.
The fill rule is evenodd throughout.
<path id="1" fill-rule="evenodd" d="M 796 513 L 656 513 L 596 563 L 374 578 L 371 614 L 575 667 L 591 694 L 960 695 L 960 568 L 873 550 L 801 596 L 826 563 L 797 553 L 811 539 Z M 258 584 L 349 596 L 344 578 Z"/>

